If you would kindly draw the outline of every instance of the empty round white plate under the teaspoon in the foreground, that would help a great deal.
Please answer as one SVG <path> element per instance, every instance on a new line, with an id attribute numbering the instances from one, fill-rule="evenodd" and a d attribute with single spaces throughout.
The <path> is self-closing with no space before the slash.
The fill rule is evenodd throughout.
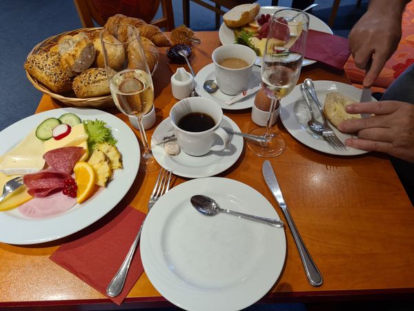
<path id="1" fill-rule="evenodd" d="M 277 218 L 270 202 L 228 178 L 184 182 L 162 196 L 145 220 L 141 258 L 152 285 L 184 310 L 241 310 L 275 285 L 284 266 L 283 228 L 228 214 L 204 216 L 190 203 L 204 194 L 223 208 Z"/>

